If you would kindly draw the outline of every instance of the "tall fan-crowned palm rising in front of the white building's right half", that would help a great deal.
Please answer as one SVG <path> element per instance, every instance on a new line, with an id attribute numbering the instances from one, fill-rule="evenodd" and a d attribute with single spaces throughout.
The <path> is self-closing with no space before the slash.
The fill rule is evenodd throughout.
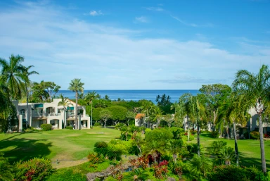
<path id="1" fill-rule="evenodd" d="M 76 108 L 75 108 L 75 129 L 77 129 L 78 125 L 78 92 L 83 93 L 84 92 L 84 83 L 81 82 L 81 79 L 74 79 L 70 82 L 70 87 L 68 87 L 69 90 L 72 92 L 76 92 Z"/>

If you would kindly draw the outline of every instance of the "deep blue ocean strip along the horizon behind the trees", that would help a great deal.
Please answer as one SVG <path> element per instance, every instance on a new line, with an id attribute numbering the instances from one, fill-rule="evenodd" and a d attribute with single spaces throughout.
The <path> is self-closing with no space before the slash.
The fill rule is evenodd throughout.
<path id="1" fill-rule="evenodd" d="M 93 90 L 84 90 L 84 94 L 92 92 Z M 103 98 L 108 95 L 111 100 L 117 100 L 118 98 L 124 99 L 125 101 L 139 101 L 146 99 L 155 102 L 155 98 L 158 95 L 166 94 L 171 97 L 171 102 L 179 101 L 179 97 L 184 93 L 191 93 L 196 95 L 199 90 L 94 90 Z M 63 94 L 65 97 L 75 99 L 75 92 L 70 90 L 60 90 L 58 94 Z M 56 94 L 56 95 L 58 95 Z"/>

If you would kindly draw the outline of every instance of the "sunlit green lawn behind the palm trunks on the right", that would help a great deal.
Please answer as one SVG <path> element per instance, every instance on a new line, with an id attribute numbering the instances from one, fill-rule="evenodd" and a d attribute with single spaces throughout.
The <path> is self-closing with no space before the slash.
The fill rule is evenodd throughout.
<path id="1" fill-rule="evenodd" d="M 193 143 L 197 143 L 197 135 L 194 135 L 195 139 Z M 210 133 L 203 133 L 200 135 L 200 143 L 207 149 L 210 144 L 214 141 L 222 140 L 227 142 L 227 146 L 231 146 L 234 149 L 234 139 L 217 138 L 211 137 Z M 238 139 L 238 151 L 239 151 L 239 162 L 242 166 L 257 166 L 259 169 L 262 168 L 261 164 L 261 152 L 259 147 L 259 140 L 254 139 Z M 270 171 L 270 140 L 264 141 L 265 156 L 266 156 L 266 167 Z M 207 153 L 207 151 L 205 151 Z"/>

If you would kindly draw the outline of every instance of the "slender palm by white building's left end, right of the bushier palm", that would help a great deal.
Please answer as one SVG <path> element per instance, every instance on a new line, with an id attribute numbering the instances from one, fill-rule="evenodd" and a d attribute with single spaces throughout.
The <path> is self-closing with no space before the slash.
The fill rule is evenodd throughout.
<path id="1" fill-rule="evenodd" d="M 33 65 L 30 65 L 28 67 L 25 67 L 23 66 L 23 79 L 25 81 L 25 93 L 26 93 L 26 113 L 27 113 L 27 116 L 26 116 L 26 123 L 28 124 L 28 115 L 30 114 L 29 113 L 29 110 L 28 110 L 28 96 L 29 96 L 29 92 L 28 92 L 28 86 L 30 85 L 30 79 L 29 79 L 29 76 L 30 75 L 33 75 L 33 74 L 38 74 L 36 71 L 30 71 L 30 68 L 34 67 Z M 32 126 L 32 123 L 30 122 L 30 126 Z M 26 125 L 27 127 L 27 125 Z"/>

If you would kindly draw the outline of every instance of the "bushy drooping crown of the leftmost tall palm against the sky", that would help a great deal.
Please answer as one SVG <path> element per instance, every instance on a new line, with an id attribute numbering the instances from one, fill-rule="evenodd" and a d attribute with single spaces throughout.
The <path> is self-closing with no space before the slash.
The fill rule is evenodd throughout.
<path id="1" fill-rule="evenodd" d="M 9 58 L 9 62 L 0 58 L 2 66 L 1 75 L 10 89 L 12 99 L 20 99 L 25 93 L 24 75 L 23 75 L 23 56 L 13 56 Z"/>

